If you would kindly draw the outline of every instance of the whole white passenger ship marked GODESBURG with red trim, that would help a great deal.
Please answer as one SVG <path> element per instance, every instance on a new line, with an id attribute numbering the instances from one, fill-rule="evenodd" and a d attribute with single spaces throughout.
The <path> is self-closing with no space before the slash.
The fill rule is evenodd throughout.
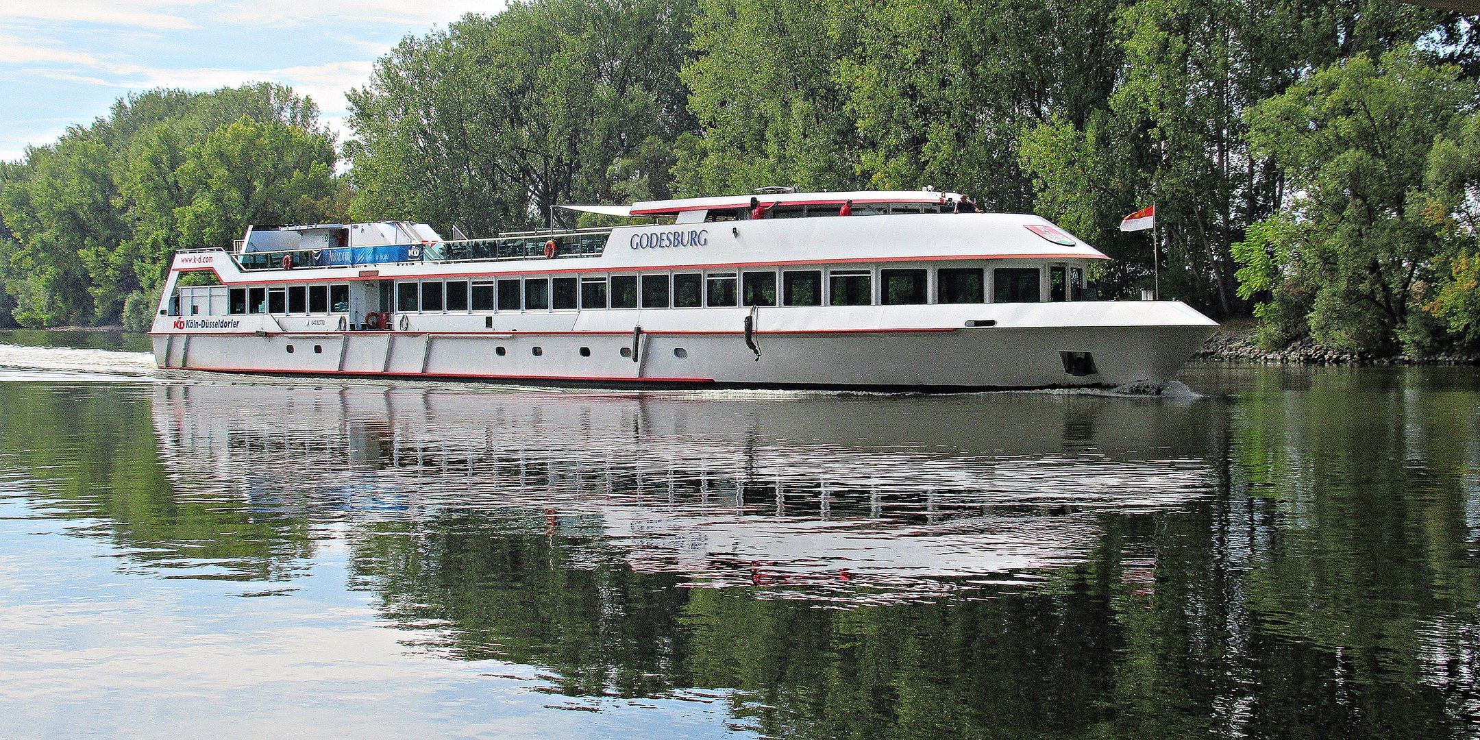
<path id="1" fill-rule="evenodd" d="M 1175 300 L 1097 300 L 1085 274 L 1106 255 L 962 203 L 564 206 L 647 222 L 481 240 L 410 222 L 249 228 L 231 250 L 176 253 L 154 355 L 234 373 L 965 391 L 1163 382 L 1217 327 Z"/>

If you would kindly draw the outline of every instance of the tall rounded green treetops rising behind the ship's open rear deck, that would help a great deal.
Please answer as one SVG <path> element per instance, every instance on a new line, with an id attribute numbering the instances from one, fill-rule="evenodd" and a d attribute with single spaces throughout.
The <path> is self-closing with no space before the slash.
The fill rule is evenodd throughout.
<path id="1" fill-rule="evenodd" d="M 545 0 L 404 38 L 348 95 L 351 213 L 487 234 L 610 201 L 617 182 L 666 192 L 665 149 L 691 127 L 676 77 L 688 12 Z"/>

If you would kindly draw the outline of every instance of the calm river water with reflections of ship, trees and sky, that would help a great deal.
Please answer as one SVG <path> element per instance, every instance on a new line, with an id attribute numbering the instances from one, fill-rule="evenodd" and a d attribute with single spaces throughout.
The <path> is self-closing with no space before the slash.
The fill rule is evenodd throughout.
<path id="1" fill-rule="evenodd" d="M 4 737 L 1480 737 L 1480 371 L 154 370 L 0 332 Z"/>

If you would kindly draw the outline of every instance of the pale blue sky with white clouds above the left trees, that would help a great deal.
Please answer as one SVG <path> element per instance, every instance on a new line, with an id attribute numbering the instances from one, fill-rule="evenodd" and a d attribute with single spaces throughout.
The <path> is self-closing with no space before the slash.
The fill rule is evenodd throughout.
<path id="1" fill-rule="evenodd" d="M 503 0 L 0 0 L 0 160 L 130 92 L 292 86 L 348 135 L 345 92 L 407 34 Z"/>

